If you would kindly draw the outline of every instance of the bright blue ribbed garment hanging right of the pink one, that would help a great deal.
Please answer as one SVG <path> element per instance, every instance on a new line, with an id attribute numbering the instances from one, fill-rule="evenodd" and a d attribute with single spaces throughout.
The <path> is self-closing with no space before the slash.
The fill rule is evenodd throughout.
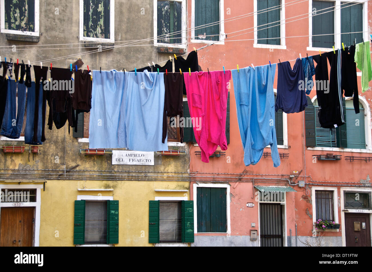
<path id="1" fill-rule="evenodd" d="M 296 69 L 299 68 L 298 64 Z M 280 165 L 275 132 L 275 69 L 272 64 L 231 71 L 246 166 L 257 164 L 267 145 L 271 148 L 273 166 Z"/>

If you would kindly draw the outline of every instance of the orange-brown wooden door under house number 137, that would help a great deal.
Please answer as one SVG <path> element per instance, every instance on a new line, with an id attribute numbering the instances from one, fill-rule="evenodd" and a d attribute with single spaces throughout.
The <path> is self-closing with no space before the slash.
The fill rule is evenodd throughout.
<path id="1" fill-rule="evenodd" d="M 0 246 L 33 246 L 35 207 L 0 210 Z"/>

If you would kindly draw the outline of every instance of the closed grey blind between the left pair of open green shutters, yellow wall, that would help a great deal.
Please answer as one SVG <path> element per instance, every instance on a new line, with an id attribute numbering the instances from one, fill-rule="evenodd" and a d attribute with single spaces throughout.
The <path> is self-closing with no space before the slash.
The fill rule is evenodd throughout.
<path id="1" fill-rule="evenodd" d="M 107 243 L 107 212 L 107 201 L 85 201 L 84 243 L 86 245 L 99 245 Z"/>

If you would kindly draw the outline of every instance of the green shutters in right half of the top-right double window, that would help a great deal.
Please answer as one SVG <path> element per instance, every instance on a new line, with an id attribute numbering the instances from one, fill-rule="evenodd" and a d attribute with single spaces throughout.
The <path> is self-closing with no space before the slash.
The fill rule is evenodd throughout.
<path id="1" fill-rule="evenodd" d="M 359 32 L 359 33 L 350 33 Z M 363 4 L 341 3 L 341 42 L 350 46 L 353 41 L 360 43 L 363 38 Z"/>

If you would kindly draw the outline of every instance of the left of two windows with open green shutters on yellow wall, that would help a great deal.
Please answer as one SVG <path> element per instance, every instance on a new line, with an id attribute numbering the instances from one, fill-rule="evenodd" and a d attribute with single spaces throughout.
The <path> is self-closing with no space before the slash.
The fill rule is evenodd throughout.
<path id="1" fill-rule="evenodd" d="M 75 200 L 74 245 L 119 243 L 118 200 Z"/>

